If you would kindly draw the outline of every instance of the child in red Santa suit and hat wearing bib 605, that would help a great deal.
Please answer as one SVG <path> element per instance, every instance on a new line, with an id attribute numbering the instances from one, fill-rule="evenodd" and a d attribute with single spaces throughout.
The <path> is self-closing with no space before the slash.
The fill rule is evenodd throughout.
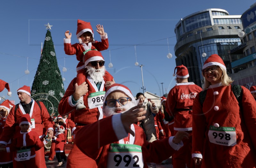
<path id="1" fill-rule="evenodd" d="M 14 152 L 14 168 L 36 167 L 36 150 L 41 149 L 50 141 L 52 135 L 49 135 L 43 142 L 40 141 L 37 133 L 29 128 L 31 126 L 29 114 L 20 117 L 19 125 L 21 130 L 15 133 L 11 146 L 0 148 L 0 151 Z"/>

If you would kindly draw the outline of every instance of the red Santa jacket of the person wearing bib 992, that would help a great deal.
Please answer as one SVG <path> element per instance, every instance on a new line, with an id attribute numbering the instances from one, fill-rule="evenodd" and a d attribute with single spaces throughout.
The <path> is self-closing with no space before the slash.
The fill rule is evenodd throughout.
<path id="1" fill-rule="evenodd" d="M 98 168 L 107 167 L 109 145 L 110 143 L 118 143 L 118 138 L 112 126 L 112 118 L 113 116 L 110 116 L 101 119 L 98 122 L 94 122 L 90 125 L 84 126 L 76 133 L 76 145 L 87 156 L 91 157 L 96 161 Z M 170 139 L 165 138 L 163 140 L 157 140 L 149 143 L 146 141 L 146 135 L 143 129 L 136 124 L 133 125 L 135 137 L 132 144 L 142 147 L 144 168 L 148 167 L 146 162 L 159 163 L 164 159 L 169 158 L 176 150 L 178 150 L 174 150 L 170 146 L 169 142 L 172 141 L 173 137 L 170 137 Z M 178 146 L 178 148 L 181 147 L 181 145 Z"/>

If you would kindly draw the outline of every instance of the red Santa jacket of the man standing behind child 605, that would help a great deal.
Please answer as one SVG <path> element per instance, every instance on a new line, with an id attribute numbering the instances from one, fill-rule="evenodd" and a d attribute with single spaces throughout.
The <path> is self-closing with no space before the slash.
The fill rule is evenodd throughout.
<path id="1" fill-rule="evenodd" d="M 52 118 L 50 117 L 46 107 L 44 106 L 44 103 L 39 101 L 41 105 L 41 109 L 38 106 L 35 101 L 33 101 L 31 109 L 30 109 L 30 117 L 31 119 L 35 119 L 35 129 L 32 129 L 38 134 L 38 137 L 41 137 L 44 135 L 43 132 L 43 125 L 48 131 L 49 129 L 53 130 L 53 124 L 52 124 Z M 0 143 L 7 144 L 9 141 L 10 137 L 15 133 L 15 132 L 20 132 L 20 126 L 19 126 L 19 119 L 22 115 L 26 114 L 23 107 L 19 103 L 19 108 L 17 109 L 15 116 L 14 116 L 14 108 L 11 109 L 7 119 L 6 123 L 4 126 L 4 131 L 0 136 Z"/>

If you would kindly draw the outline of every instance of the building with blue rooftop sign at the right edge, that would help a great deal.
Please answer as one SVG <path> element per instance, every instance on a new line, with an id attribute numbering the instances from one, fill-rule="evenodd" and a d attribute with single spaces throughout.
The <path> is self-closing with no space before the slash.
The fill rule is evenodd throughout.
<path id="1" fill-rule="evenodd" d="M 256 85 L 256 3 L 246 10 L 241 21 L 244 36 L 242 44 L 229 51 L 234 84 L 243 85 L 250 89 Z"/>

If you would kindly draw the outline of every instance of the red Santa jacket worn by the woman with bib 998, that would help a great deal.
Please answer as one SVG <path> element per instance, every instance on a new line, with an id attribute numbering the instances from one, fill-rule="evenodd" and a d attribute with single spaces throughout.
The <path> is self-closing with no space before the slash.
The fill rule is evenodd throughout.
<path id="1" fill-rule="evenodd" d="M 256 102 L 243 86 L 242 92 L 241 104 L 238 104 L 231 86 L 211 85 L 207 89 L 203 107 L 199 96 L 196 96 L 193 105 L 192 157 L 202 158 L 203 155 L 202 168 L 255 167 Z M 227 144 L 220 143 L 220 140 L 229 143 L 231 134 L 210 131 L 213 126 L 217 129 L 235 128 L 236 144 L 224 146 Z M 210 139 L 213 141 L 210 142 Z"/>

